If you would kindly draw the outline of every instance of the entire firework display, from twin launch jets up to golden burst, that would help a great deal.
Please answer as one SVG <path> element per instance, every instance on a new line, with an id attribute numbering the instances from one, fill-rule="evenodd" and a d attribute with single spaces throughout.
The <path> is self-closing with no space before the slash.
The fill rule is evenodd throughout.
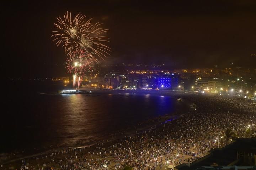
<path id="1" fill-rule="evenodd" d="M 82 76 L 92 73 L 95 63 L 110 55 L 110 48 L 104 43 L 108 38 L 104 36 L 108 29 L 102 29 L 101 23 L 92 23 L 92 18 L 86 20 L 86 16 L 78 15 L 71 17 L 71 12 L 66 12 L 63 18 L 58 17 L 57 28 L 53 31 L 53 42 L 57 46 L 63 46 L 66 53 L 66 68 L 73 75 L 73 87 L 76 80 L 78 89 Z"/>

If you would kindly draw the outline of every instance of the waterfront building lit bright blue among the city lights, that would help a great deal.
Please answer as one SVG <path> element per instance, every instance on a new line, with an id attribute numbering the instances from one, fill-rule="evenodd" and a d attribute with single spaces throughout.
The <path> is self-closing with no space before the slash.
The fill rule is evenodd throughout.
<path id="1" fill-rule="evenodd" d="M 177 88 L 178 86 L 178 77 L 174 73 L 167 73 L 164 76 L 158 78 L 158 87 L 159 88 Z"/>

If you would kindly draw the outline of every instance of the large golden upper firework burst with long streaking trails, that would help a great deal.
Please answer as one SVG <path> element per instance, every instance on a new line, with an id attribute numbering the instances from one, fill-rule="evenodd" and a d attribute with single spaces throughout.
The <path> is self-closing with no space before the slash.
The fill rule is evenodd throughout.
<path id="1" fill-rule="evenodd" d="M 100 28 L 101 23 L 92 23 L 92 18 L 86 20 L 86 16 L 80 13 L 71 17 L 71 12 L 66 12 L 63 18 L 57 17 L 57 28 L 53 31 L 51 37 L 57 46 L 61 45 L 65 48 L 67 57 L 73 59 L 79 53 L 85 60 L 90 62 L 99 62 L 107 55 L 110 55 L 110 48 L 104 43 L 108 42 L 104 36 L 108 29 Z"/>

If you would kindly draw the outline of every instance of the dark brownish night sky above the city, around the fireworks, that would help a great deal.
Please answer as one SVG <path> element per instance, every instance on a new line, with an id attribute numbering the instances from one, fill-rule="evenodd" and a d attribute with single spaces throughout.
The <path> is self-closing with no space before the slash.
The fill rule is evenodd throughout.
<path id="1" fill-rule="evenodd" d="M 65 54 L 52 42 L 56 17 L 81 12 L 110 29 L 103 64 L 170 68 L 255 67 L 256 1 L 20 1 L 1 5 L 2 73 L 63 76 Z"/>

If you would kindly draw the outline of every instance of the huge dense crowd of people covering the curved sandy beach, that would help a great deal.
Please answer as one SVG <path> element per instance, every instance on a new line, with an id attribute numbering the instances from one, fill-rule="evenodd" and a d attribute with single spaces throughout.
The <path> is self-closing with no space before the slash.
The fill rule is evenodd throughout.
<path id="1" fill-rule="evenodd" d="M 224 147 L 235 137 L 249 137 L 247 126 L 256 123 L 256 109 L 250 100 L 198 95 L 182 98 L 195 103 L 196 108 L 162 124 L 148 120 L 147 124 L 153 122 L 150 130 L 79 148 L 52 149 L 47 154 L 21 160 L 17 163 L 19 167 L 5 164 L 0 169 L 10 166 L 20 170 L 117 170 L 125 166 L 134 170 L 167 169 L 169 165 L 191 163 L 205 156 L 218 143 Z M 253 129 L 251 136 L 256 136 Z"/>

